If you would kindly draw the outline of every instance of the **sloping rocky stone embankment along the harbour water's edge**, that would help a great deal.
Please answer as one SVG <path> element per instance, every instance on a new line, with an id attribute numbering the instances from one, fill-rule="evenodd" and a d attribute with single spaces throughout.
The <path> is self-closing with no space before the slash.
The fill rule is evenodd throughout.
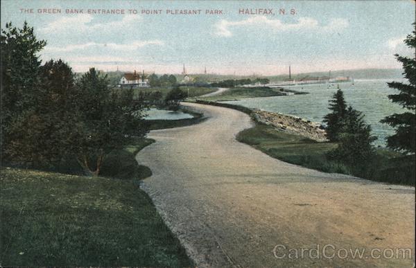
<path id="1" fill-rule="evenodd" d="M 320 123 L 311 122 L 297 116 L 257 109 L 252 111 L 252 116 L 259 123 L 271 125 L 283 132 L 305 136 L 315 141 L 327 141 L 326 132 Z"/>

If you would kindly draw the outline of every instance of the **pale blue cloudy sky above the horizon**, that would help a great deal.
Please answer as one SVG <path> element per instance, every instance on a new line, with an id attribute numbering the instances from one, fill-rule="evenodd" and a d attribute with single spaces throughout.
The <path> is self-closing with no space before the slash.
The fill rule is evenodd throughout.
<path id="1" fill-rule="evenodd" d="M 33 8 L 33 14 L 20 8 Z M 60 8 L 40 14 L 38 8 Z M 69 15 L 66 8 L 156 9 L 162 15 Z M 275 15 L 241 15 L 272 8 Z M 279 9 L 295 15 L 279 15 Z M 166 15 L 200 9 L 201 15 Z M 205 10 L 223 15 L 205 15 Z M 207 71 L 273 75 L 293 71 L 400 68 L 394 53 L 413 30 L 415 1 L 1 1 L 1 27 L 24 20 L 46 39 L 42 60 L 62 58 L 75 71 L 90 66 L 130 71 Z"/>

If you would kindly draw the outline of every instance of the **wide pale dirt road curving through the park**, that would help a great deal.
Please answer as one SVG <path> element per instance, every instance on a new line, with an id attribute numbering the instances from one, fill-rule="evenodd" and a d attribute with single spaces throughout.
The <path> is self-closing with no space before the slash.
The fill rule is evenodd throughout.
<path id="1" fill-rule="evenodd" d="M 234 139 L 251 126 L 246 114 L 184 105 L 209 118 L 198 125 L 150 132 L 156 143 L 141 150 L 137 161 L 153 171 L 141 187 L 196 265 L 413 266 L 415 188 L 272 159 Z M 322 254 L 327 244 L 329 258 Z M 315 251 L 304 251 L 302 258 L 301 248 L 317 247 L 319 258 Z M 344 249 L 363 247 L 367 258 L 348 253 L 344 259 Z M 385 248 L 387 257 L 390 248 L 410 248 L 413 260 L 377 258 Z M 371 249 L 376 249 L 375 258 Z"/>

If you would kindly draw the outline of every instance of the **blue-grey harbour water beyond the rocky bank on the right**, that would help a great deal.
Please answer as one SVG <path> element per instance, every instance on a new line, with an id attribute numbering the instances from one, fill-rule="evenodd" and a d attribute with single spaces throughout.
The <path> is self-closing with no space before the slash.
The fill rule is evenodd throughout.
<path id="1" fill-rule="evenodd" d="M 403 82 L 402 80 L 397 80 Z M 333 84 L 304 84 L 288 86 L 287 89 L 309 92 L 304 95 L 276 96 L 268 98 L 248 98 L 227 101 L 245 107 L 275 111 L 283 114 L 300 116 L 314 122 L 322 123 L 322 118 L 329 113 L 328 104 L 337 86 L 343 90 L 345 100 L 354 109 L 365 114 L 364 120 L 372 127 L 372 134 L 379 139 L 374 141 L 376 146 L 385 146 L 385 137 L 394 134 L 392 127 L 380 123 L 385 116 L 406 111 L 400 105 L 391 102 L 388 95 L 399 93 L 390 89 L 387 82 L 392 80 L 355 80 L 352 82 Z"/>

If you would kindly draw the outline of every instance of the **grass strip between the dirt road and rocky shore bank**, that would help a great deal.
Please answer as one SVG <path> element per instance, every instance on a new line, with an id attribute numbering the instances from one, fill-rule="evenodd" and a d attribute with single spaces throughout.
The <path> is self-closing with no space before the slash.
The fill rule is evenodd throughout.
<path id="1" fill-rule="evenodd" d="M 390 150 L 378 149 L 368 163 L 366 174 L 356 174 L 351 168 L 327 159 L 327 152 L 336 143 L 319 143 L 303 136 L 287 134 L 274 127 L 257 123 L 237 135 L 237 140 L 252 145 L 276 159 L 324 172 L 355 175 L 392 184 L 415 186 L 415 161 Z"/>

